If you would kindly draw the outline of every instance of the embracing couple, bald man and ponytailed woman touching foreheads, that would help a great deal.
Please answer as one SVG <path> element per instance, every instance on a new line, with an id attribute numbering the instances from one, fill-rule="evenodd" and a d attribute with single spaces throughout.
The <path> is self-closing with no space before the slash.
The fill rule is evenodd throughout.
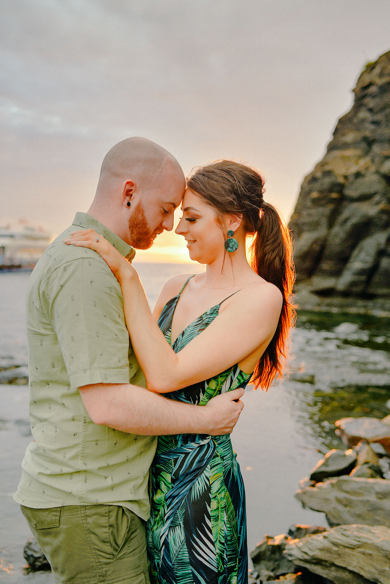
<path id="1" fill-rule="evenodd" d="M 34 268 L 34 442 L 15 500 L 55 582 L 247 581 L 229 434 L 246 384 L 281 374 L 293 318 L 290 233 L 263 191 L 227 160 L 186 180 L 168 151 L 128 138 L 106 155 L 88 214 Z M 206 272 L 168 280 L 151 312 L 133 248 L 172 230 L 180 204 L 176 233 Z"/>

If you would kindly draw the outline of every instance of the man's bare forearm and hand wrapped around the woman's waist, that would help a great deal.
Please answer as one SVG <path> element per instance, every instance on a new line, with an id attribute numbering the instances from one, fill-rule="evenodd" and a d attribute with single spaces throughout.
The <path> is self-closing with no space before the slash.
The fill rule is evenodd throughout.
<path id="1" fill-rule="evenodd" d="M 93 422 L 122 432 L 229 434 L 242 411 L 241 388 L 210 399 L 205 406 L 183 404 L 131 384 L 92 384 L 79 388 Z"/>

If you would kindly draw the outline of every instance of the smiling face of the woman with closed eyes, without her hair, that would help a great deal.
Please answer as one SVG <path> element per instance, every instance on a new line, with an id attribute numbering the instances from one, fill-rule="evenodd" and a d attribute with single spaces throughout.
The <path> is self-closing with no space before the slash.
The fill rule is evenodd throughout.
<path id="1" fill-rule="evenodd" d="M 199 263 L 212 263 L 223 257 L 225 238 L 217 223 L 217 211 L 190 189 L 184 193 L 182 211 L 175 232 L 186 239 L 190 258 Z"/>

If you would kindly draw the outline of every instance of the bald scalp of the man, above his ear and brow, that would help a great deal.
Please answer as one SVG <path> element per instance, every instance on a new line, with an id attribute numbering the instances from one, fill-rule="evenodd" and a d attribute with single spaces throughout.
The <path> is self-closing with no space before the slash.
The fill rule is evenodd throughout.
<path id="1" fill-rule="evenodd" d="M 126 179 L 134 180 L 144 189 L 154 182 L 161 182 L 161 175 L 167 171 L 175 173 L 184 184 L 182 168 L 168 150 L 148 138 L 126 138 L 107 152 L 96 194 L 99 193 L 99 198 L 105 194 L 111 196 L 113 188 Z"/>

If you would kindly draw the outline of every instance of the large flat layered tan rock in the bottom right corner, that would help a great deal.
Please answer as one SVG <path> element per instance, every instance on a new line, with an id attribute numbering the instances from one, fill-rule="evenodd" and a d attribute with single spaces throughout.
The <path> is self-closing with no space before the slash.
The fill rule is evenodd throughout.
<path id="1" fill-rule="evenodd" d="M 390 529 L 340 525 L 322 534 L 290 541 L 284 554 L 337 584 L 390 584 Z"/>

